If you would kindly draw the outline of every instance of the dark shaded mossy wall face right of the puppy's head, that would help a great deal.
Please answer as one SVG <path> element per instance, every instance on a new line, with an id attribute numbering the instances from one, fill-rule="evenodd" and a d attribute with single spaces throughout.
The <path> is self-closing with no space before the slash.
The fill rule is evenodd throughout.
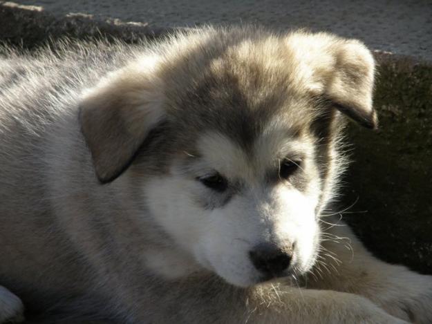
<path id="1" fill-rule="evenodd" d="M 382 258 L 432 273 L 432 66 L 381 58 L 377 132 L 351 127 L 345 217 Z"/>

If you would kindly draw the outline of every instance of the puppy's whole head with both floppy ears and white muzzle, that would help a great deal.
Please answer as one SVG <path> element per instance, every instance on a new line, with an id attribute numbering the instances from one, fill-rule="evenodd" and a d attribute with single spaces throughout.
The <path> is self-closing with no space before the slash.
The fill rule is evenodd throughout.
<path id="1" fill-rule="evenodd" d="M 124 176 L 182 254 L 245 287 L 314 264 L 339 112 L 376 125 L 373 69 L 326 34 L 197 30 L 89 90 L 82 131 L 101 182 L 132 162 Z"/>

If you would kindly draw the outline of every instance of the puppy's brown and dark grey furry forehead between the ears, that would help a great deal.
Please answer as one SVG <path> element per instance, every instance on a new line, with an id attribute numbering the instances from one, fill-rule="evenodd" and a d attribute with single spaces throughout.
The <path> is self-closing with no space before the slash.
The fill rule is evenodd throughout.
<path id="1" fill-rule="evenodd" d="M 276 155 L 273 146 L 308 132 L 314 117 L 313 98 L 293 77 L 298 62 L 286 53 L 281 39 L 243 39 L 203 48 L 188 52 L 164 74 L 167 111 L 178 134 L 176 142 L 185 151 L 194 152 L 191 143 L 197 139 L 207 141 L 198 146 L 217 147 L 214 153 L 208 152 L 208 156 L 216 155 L 212 160 L 231 152 L 229 157 L 244 166 L 257 150 Z"/>

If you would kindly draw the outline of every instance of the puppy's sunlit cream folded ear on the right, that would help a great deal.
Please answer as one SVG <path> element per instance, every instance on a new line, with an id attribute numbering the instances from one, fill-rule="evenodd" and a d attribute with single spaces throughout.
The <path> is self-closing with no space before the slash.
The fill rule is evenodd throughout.
<path id="1" fill-rule="evenodd" d="M 335 108 L 362 126 L 377 128 L 372 101 L 375 61 L 370 50 L 355 39 L 326 33 L 292 38 L 292 46 L 300 43 L 296 55 L 312 67 L 306 77 L 312 93 L 330 99 Z"/>

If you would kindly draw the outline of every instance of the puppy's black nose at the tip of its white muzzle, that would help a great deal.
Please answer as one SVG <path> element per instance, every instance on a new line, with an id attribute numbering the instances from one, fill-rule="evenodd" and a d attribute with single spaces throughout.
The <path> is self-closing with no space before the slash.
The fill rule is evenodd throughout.
<path id="1" fill-rule="evenodd" d="M 279 276 L 290 266 L 292 248 L 261 243 L 249 252 L 254 267 L 265 276 Z"/>

